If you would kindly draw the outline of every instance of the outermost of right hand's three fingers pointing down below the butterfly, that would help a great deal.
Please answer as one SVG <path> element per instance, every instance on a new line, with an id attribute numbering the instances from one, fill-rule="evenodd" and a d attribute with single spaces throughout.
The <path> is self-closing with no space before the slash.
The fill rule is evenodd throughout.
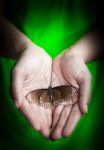
<path id="1" fill-rule="evenodd" d="M 67 137 L 72 133 L 80 117 L 81 117 L 81 112 L 80 112 L 79 106 L 78 104 L 75 104 L 63 128 L 63 131 L 62 131 L 63 137 Z"/>

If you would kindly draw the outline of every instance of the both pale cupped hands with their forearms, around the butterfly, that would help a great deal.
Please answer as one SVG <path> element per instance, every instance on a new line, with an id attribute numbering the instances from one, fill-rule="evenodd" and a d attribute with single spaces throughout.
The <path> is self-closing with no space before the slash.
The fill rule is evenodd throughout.
<path id="1" fill-rule="evenodd" d="M 44 49 L 32 43 L 10 22 L 3 20 L 0 37 L 3 36 L 2 43 L 6 46 L 0 44 L 0 55 L 16 60 L 11 76 L 15 106 L 44 137 L 58 140 L 69 136 L 82 114 L 87 112 L 91 74 L 86 63 L 102 56 L 102 35 L 96 30 L 89 32 L 52 60 Z M 9 42 L 7 35 L 11 39 Z M 50 83 L 53 87 L 66 84 L 77 87 L 80 90 L 78 102 L 73 106 L 59 105 L 51 110 L 26 101 L 25 96 L 30 91 L 48 88 Z M 50 134 L 51 127 L 53 132 Z"/>

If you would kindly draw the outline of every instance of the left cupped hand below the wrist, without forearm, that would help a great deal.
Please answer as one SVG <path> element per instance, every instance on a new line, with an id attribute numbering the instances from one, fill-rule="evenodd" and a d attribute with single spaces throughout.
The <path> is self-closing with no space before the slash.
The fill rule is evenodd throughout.
<path id="1" fill-rule="evenodd" d="M 11 76 L 11 94 L 16 107 L 32 127 L 46 138 L 52 122 L 51 109 L 29 103 L 26 95 L 33 90 L 49 87 L 51 66 L 52 60 L 48 54 L 31 42 L 17 60 Z"/>

